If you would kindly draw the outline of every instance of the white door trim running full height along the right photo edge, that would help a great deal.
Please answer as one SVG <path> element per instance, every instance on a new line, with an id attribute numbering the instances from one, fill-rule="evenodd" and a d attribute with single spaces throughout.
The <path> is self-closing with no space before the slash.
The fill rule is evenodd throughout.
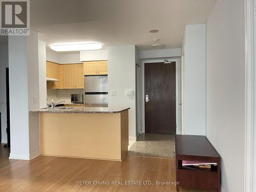
<path id="1" fill-rule="evenodd" d="M 256 0 L 245 0 L 245 163 L 244 191 L 255 191 L 256 178 Z"/>

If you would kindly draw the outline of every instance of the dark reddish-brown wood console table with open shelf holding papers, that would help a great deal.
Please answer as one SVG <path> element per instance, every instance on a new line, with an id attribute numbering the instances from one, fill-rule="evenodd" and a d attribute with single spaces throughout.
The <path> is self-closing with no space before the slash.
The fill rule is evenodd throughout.
<path id="1" fill-rule="evenodd" d="M 176 135 L 176 178 L 179 186 L 220 192 L 220 156 L 205 136 Z M 183 166 L 184 161 L 217 163 L 211 168 Z"/>

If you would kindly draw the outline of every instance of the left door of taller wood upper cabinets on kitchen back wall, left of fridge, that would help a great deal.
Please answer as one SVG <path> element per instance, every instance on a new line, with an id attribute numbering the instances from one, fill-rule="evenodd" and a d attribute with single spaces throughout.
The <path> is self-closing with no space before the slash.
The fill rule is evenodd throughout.
<path id="1" fill-rule="evenodd" d="M 63 65 L 63 89 L 74 89 L 74 65 Z"/>

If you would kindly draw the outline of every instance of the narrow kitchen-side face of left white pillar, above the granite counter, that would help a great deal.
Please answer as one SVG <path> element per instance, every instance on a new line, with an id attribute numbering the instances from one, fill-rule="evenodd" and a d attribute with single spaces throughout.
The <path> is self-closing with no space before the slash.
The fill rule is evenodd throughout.
<path id="1" fill-rule="evenodd" d="M 39 65 L 39 106 L 46 107 L 46 42 L 38 40 L 38 65 Z"/>

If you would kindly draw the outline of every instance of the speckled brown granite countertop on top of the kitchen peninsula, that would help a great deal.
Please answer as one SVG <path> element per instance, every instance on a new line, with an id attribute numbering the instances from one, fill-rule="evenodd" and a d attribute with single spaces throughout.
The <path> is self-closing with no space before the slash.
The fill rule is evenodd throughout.
<path id="1" fill-rule="evenodd" d="M 58 108 L 41 108 L 38 110 L 31 110 L 30 113 L 121 113 L 125 110 L 129 110 L 130 108 L 89 108 L 89 107 L 80 107 L 80 108 L 66 108 L 60 109 Z M 65 108 L 65 107 L 64 107 Z"/>

